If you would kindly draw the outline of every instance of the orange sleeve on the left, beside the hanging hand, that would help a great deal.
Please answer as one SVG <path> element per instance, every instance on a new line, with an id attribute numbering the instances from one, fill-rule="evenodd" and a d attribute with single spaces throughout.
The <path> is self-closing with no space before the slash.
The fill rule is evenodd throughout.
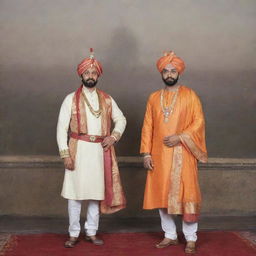
<path id="1" fill-rule="evenodd" d="M 153 137 L 153 116 L 152 106 L 150 104 L 150 98 L 147 102 L 146 113 L 144 117 L 142 132 L 141 132 L 141 145 L 140 153 L 151 153 L 152 149 L 152 137 Z"/>

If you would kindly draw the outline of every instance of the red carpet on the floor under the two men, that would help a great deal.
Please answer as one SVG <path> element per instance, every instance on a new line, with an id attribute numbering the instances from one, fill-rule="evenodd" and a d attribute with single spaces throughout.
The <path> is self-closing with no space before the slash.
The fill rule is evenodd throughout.
<path id="1" fill-rule="evenodd" d="M 4 256 L 184 256 L 184 239 L 176 246 L 154 248 L 162 233 L 100 234 L 103 246 L 80 239 L 73 249 L 63 247 L 66 235 L 12 236 Z M 196 256 L 255 256 L 256 248 L 235 232 L 199 232 Z M 9 247 L 9 248 L 8 248 Z"/>

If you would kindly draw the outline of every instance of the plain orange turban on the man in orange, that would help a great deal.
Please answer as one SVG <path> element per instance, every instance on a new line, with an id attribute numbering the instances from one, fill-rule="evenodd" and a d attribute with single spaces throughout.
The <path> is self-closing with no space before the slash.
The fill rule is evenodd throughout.
<path id="1" fill-rule="evenodd" d="M 180 74 L 185 69 L 184 61 L 176 56 L 173 51 L 165 52 L 164 56 L 157 61 L 156 66 L 160 73 L 163 71 L 167 64 L 173 65 Z"/>

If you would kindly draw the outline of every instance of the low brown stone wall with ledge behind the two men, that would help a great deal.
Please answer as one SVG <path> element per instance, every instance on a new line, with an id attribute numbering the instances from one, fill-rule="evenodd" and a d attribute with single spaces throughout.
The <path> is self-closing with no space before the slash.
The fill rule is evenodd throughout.
<path id="1" fill-rule="evenodd" d="M 146 171 L 138 157 L 120 157 L 128 205 L 116 215 L 156 215 L 142 210 Z M 66 216 L 60 192 L 63 165 L 55 156 L 0 157 L 0 215 Z M 256 214 L 256 159 L 214 159 L 199 165 L 203 215 Z"/>

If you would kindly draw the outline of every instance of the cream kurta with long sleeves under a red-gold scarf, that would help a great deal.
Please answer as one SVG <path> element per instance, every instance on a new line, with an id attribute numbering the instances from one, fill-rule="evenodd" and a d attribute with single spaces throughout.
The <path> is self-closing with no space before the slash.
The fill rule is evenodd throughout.
<path id="1" fill-rule="evenodd" d="M 90 92 L 87 88 L 83 91 L 93 109 L 99 109 L 99 100 L 96 90 Z M 58 125 L 57 142 L 59 150 L 68 149 L 68 129 L 71 119 L 71 108 L 74 92 L 69 94 L 62 103 Z M 114 132 L 122 135 L 126 126 L 126 119 L 118 108 L 116 102 L 112 101 L 112 120 Z M 89 135 L 101 135 L 101 117 L 96 118 L 87 105 L 87 129 Z M 75 160 L 75 170 L 65 170 L 64 182 L 61 195 L 66 199 L 73 200 L 103 200 L 104 199 L 104 162 L 103 148 L 101 143 L 78 141 Z"/>

